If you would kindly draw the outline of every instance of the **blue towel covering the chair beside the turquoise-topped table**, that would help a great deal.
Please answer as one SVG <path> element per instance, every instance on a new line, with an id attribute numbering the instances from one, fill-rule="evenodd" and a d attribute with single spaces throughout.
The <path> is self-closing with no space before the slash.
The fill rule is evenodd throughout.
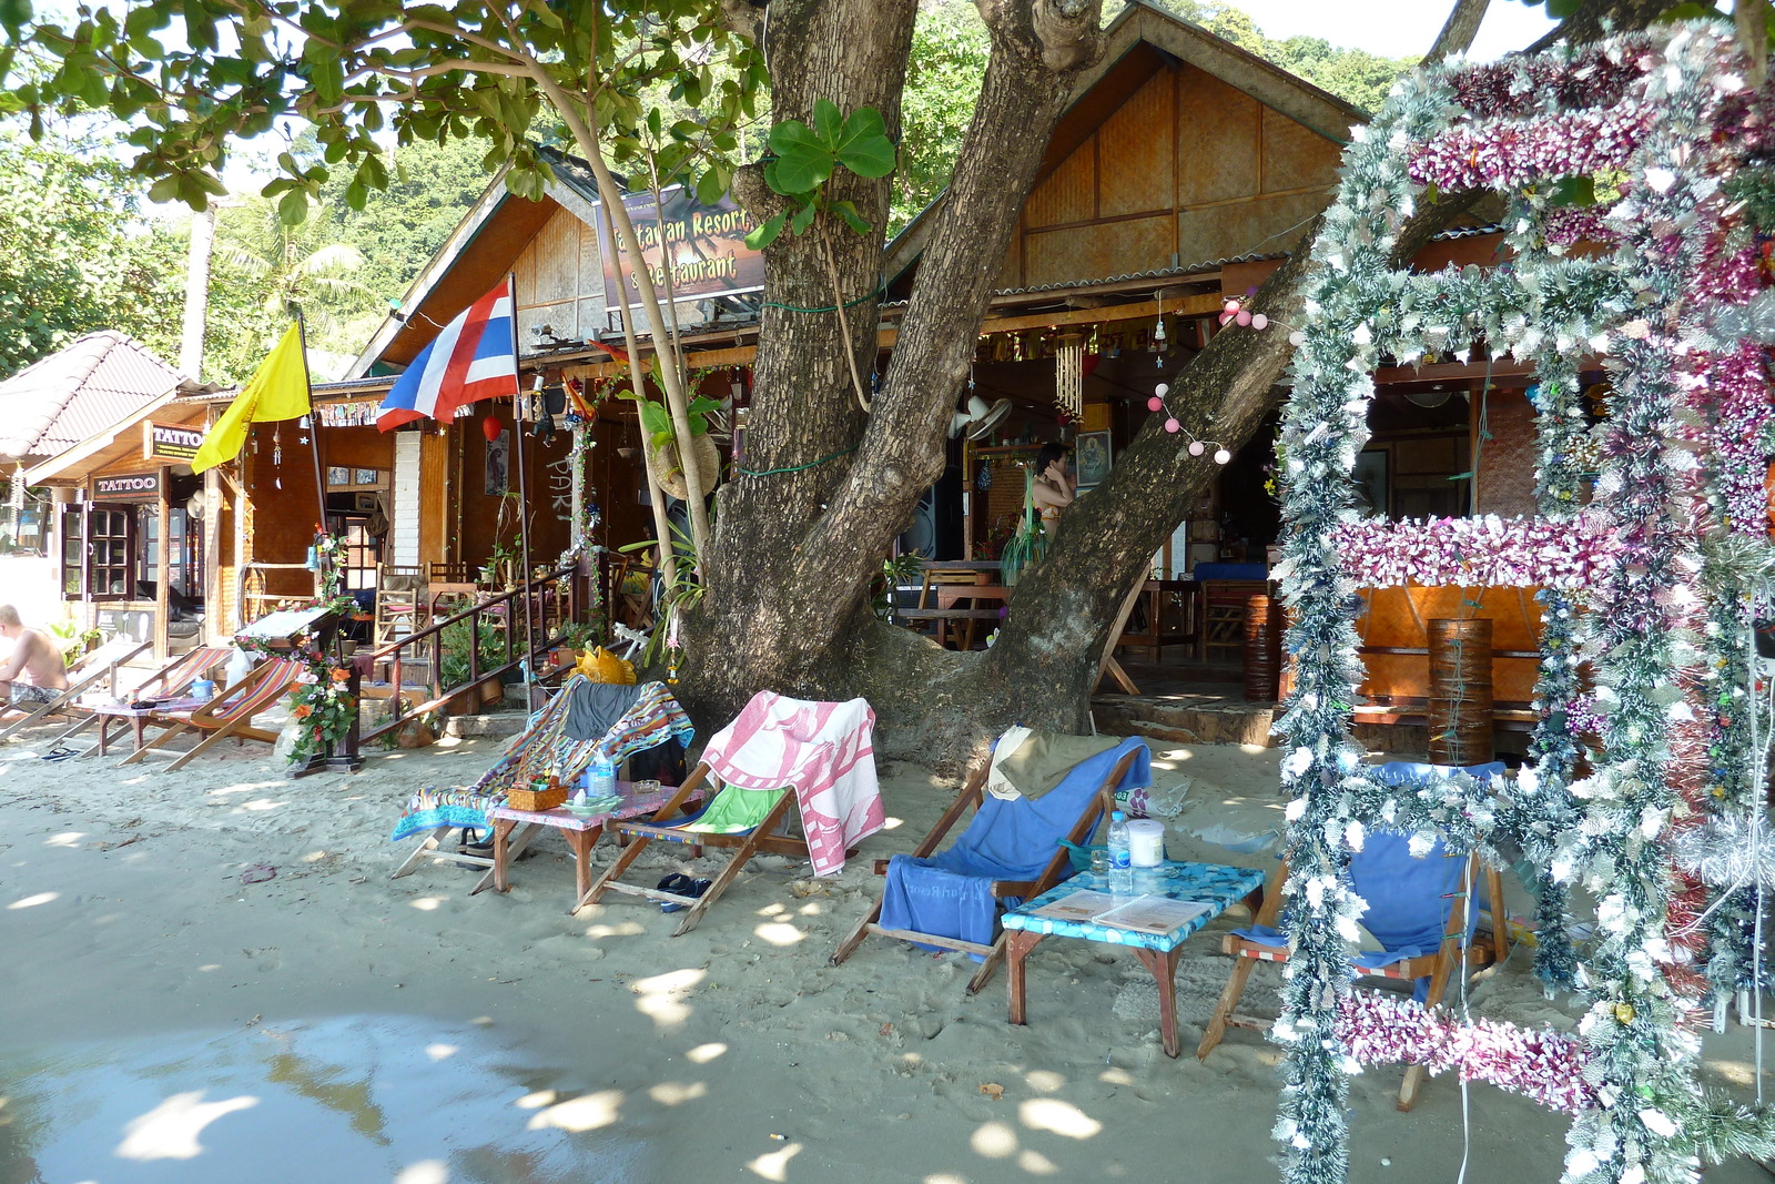
<path id="1" fill-rule="evenodd" d="M 1033 880 L 1042 875 L 1058 840 L 1067 836 L 1097 786 L 1129 751 L 1136 753 L 1134 762 L 1116 788 L 1148 785 L 1152 753 L 1145 740 L 1129 737 L 1074 765 L 1040 799 L 1003 801 L 989 793 L 948 850 L 930 859 L 895 856 L 888 863 L 882 928 L 990 944 L 998 925 L 992 880 Z M 1061 879 L 1069 875 L 1070 864 L 1061 868 Z"/>

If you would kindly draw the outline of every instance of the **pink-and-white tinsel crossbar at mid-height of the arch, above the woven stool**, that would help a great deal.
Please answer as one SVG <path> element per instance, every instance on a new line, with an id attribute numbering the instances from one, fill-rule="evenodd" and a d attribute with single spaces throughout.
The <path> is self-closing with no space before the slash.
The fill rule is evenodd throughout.
<path id="1" fill-rule="evenodd" d="M 1589 588 L 1615 561 L 1613 533 L 1574 518 L 1363 518 L 1335 545 L 1363 588 Z"/>

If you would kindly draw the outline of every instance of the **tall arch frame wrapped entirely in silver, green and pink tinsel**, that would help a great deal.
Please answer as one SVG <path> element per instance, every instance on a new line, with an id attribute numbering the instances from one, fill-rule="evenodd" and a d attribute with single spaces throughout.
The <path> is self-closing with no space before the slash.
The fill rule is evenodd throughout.
<path id="1" fill-rule="evenodd" d="M 1763 1127 L 1695 1079 L 1697 1024 L 1752 978 L 1757 900 L 1736 872 L 1748 859 L 1720 872 L 1700 856 L 1722 834 L 1755 854 L 1766 781 L 1750 641 L 1770 570 L 1775 296 L 1759 241 L 1775 231 L 1775 105 L 1748 71 L 1711 23 L 1447 64 L 1402 80 L 1345 153 L 1278 442 L 1292 953 L 1273 1038 L 1294 1184 L 1344 1179 L 1347 1074 L 1363 1062 L 1427 1062 L 1573 1113 L 1571 1184 L 1690 1180 Z M 1505 202 L 1509 257 L 1404 270 L 1413 209 L 1470 190 Z M 1534 362 L 1537 518 L 1358 517 L 1372 371 L 1447 353 Z M 1578 375 L 1594 359 L 1613 394 L 1592 424 Z M 1503 792 L 1464 776 L 1400 788 L 1363 765 L 1356 589 L 1384 584 L 1539 589 L 1541 722 Z M 1537 868 L 1535 973 L 1587 999 L 1576 1037 L 1351 991 L 1363 902 L 1349 861 L 1376 829 L 1493 857 L 1521 847 Z M 1582 959 L 1566 939 L 1573 884 L 1598 900 Z"/>

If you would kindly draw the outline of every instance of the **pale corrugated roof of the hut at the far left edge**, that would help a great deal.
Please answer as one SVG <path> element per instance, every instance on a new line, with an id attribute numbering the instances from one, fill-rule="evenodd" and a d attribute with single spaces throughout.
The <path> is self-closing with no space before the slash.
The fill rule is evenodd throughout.
<path id="1" fill-rule="evenodd" d="M 0 456 L 55 456 L 183 380 L 126 334 L 87 334 L 0 382 Z"/>

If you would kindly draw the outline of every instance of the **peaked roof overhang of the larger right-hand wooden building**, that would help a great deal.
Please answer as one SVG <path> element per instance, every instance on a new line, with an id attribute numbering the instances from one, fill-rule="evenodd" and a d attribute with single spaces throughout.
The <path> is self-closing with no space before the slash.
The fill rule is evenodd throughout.
<path id="1" fill-rule="evenodd" d="M 1308 131 L 1344 146 L 1351 124 L 1369 122 L 1369 115 L 1351 103 L 1321 91 L 1250 50 L 1218 37 L 1180 16 L 1150 4 L 1129 0 L 1104 30 L 1104 55 L 1097 66 L 1079 75 L 1072 101 L 1054 124 L 1042 165 L 1030 186 L 1033 193 L 1104 121 L 1161 69 L 1195 66 L 1230 87 L 1242 91 Z M 882 257 L 882 280 L 895 284 L 930 241 L 935 213 L 948 197 L 939 193 L 900 231 Z M 1186 264 L 1189 261 L 1184 261 Z M 1193 270 L 1186 266 L 1184 270 Z"/>

